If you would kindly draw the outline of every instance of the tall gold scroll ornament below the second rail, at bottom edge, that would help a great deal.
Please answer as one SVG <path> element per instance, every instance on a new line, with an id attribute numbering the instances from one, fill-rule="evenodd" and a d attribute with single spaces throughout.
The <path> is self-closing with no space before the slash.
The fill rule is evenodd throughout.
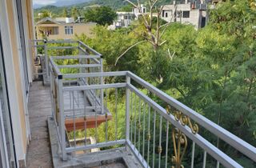
<path id="1" fill-rule="evenodd" d="M 184 157 L 187 148 L 186 135 L 178 130 L 178 128 L 174 128 L 172 131 L 172 138 L 174 142 L 174 155 L 172 156 L 171 161 L 175 165 L 172 166 L 172 168 L 184 168 L 182 165 L 182 158 Z"/>

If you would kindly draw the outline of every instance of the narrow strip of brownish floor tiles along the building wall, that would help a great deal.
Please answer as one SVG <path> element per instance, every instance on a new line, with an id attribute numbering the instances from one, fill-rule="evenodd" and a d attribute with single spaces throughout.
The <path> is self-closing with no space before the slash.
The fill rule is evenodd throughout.
<path id="1" fill-rule="evenodd" d="M 28 168 L 51 168 L 50 139 L 47 116 L 51 115 L 50 87 L 33 82 L 30 87 L 29 114 L 31 142 L 28 147 Z"/>

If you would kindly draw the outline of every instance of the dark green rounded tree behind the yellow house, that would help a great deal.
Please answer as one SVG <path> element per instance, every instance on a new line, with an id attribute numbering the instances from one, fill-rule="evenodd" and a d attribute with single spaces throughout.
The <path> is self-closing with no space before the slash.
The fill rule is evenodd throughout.
<path id="1" fill-rule="evenodd" d="M 99 25 L 105 26 L 113 23 L 117 14 L 110 7 L 101 6 L 90 8 L 85 11 L 87 22 L 97 22 Z"/>

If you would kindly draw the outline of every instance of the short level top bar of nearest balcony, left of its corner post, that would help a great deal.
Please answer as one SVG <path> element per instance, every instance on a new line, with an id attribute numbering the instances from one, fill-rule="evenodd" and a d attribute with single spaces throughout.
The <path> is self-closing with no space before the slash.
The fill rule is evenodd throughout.
<path id="1" fill-rule="evenodd" d="M 127 73 L 126 71 L 117 71 L 117 72 L 63 74 L 63 78 L 118 77 L 118 76 L 126 76 L 126 73 Z"/>

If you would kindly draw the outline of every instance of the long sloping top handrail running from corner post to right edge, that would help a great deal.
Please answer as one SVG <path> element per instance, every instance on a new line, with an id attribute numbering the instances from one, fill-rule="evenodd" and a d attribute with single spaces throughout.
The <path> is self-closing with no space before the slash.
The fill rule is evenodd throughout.
<path id="1" fill-rule="evenodd" d="M 182 111 L 183 114 L 186 114 L 189 118 L 193 119 L 194 122 L 198 122 L 200 126 L 205 127 L 206 130 L 209 130 L 212 134 L 215 134 L 216 136 L 218 136 L 218 138 L 221 138 L 222 140 L 230 144 L 230 146 L 233 146 L 235 149 L 242 152 L 242 154 L 245 154 L 247 157 L 251 158 L 252 160 L 254 160 L 254 162 L 256 162 L 256 148 L 254 146 L 251 146 L 249 143 L 243 141 L 241 138 L 238 138 L 234 134 L 231 134 L 229 131 L 225 130 L 221 126 L 218 126 L 216 123 L 211 122 L 208 118 L 202 116 L 201 114 L 198 114 L 196 111 L 190 109 L 188 106 L 185 106 L 181 102 L 178 102 L 178 100 L 170 97 L 168 94 L 152 86 L 150 83 L 144 81 L 142 78 L 139 78 L 137 75 L 132 74 L 131 72 L 128 72 L 127 74 L 135 82 L 138 82 L 138 84 L 144 86 L 153 94 L 156 94 L 163 101 L 170 104 L 170 106 L 174 106 L 177 110 Z"/>

